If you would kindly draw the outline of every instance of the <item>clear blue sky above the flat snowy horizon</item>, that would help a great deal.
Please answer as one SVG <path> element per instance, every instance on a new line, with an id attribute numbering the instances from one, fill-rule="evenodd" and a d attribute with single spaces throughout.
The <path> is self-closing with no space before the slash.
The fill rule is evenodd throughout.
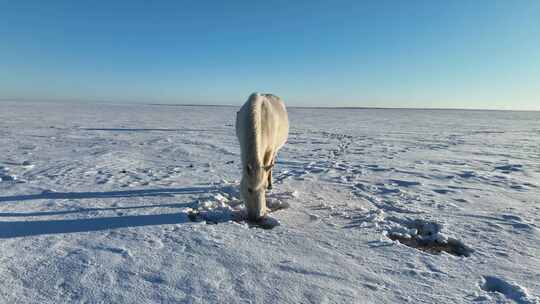
<path id="1" fill-rule="evenodd" d="M 0 0 L 0 98 L 540 110 L 540 1 Z"/>

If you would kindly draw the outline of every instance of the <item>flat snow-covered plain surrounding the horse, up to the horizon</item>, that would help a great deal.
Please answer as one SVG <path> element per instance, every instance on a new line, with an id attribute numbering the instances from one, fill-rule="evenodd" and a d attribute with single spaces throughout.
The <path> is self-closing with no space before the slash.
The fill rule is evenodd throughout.
<path id="1" fill-rule="evenodd" d="M 0 302 L 540 303 L 540 112 L 289 109 L 254 225 L 235 111 L 0 103 Z"/>

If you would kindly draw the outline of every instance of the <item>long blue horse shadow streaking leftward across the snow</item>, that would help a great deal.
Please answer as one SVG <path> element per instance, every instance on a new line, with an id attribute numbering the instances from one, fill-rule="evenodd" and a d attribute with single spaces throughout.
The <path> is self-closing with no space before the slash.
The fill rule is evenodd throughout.
<path id="1" fill-rule="evenodd" d="M 203 194 L 223 191 L 227 187 L 205 186 L 205 187 L 187 187 L 172 189 L 141 189 L 126 191 L 108 191 L 108 192 L 42 192 L 39 194 L 2 196 L 0 202 L 27 201 L 40 199 L 88 199 L 88 198 L 120 198 L 120 197 L 148 197 L 165 196 L 174 197 L 179 194 Z M 86 208 L 65 211 L 45 211 L 28 213 L 0 213 L 1 218 L 9 217 L 39 217 L 51 215 L 65 215 L 70 213 L 84 213 L 105 210 L 122 209 L 142 209 L 142 208 L 183 208 L 190 207 L 194 203 L 176 203 L 176 204 L 153 204 L 142 206 L 110 207 L 110 208 Z M 81 233 L 91 231 L 102 231 L 118 228 L 156 226 L 170 224 L 184 224 L 191 222 L 187 214 L 165 213 L 150 215 L 125 215 L 114 217 L 99 218 L 80 218 L 80 219 L 59 219 L 59 220 L 18 220 L 2 221 L 0 220 L 0 239 L 9 239 L 16 237 Z"/>

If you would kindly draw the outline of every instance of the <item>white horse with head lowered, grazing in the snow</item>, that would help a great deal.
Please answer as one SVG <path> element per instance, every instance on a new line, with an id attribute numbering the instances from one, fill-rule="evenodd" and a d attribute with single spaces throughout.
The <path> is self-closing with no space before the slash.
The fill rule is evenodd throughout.
<path id="1" fill-rule="evenodd" d="M 275 95 L 253 93 L 236 113 L 242 157 L 240 193 L 252 221 L 266 215 L 266 189 L 272 189 L 272 167 L 288 134 L 287 110 Z"/>

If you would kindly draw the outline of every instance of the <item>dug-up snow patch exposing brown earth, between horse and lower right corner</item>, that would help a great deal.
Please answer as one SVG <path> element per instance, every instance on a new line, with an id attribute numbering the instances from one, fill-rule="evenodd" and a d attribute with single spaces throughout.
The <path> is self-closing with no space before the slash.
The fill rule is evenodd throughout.
<path id="1" fill-rule="evenodd" d="M 444 236 L 441 233 L 442 226 L 438 223 L 414 220 L 405 223 L 405 226 L 406 228 L 401 227 L 399 231 L 390 231 L 387 234 L 388 238 L 431 254 L 446 252 L 468 257 L 474 251 L 461 241 Z M 403 233 L 401 230 L 406 232 Z"/>

